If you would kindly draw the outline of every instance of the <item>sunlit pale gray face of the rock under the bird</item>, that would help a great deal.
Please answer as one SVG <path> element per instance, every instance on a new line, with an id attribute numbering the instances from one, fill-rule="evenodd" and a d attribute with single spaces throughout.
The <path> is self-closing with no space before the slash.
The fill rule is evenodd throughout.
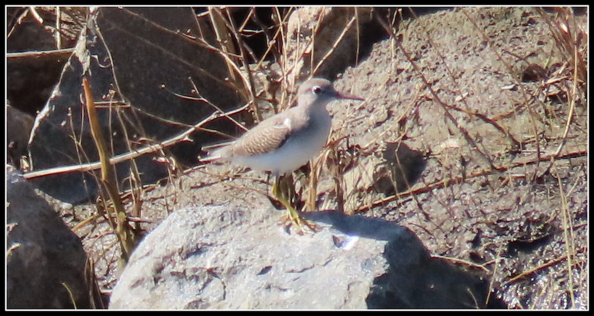
<path id="1" fill-rule="evenodd" d="M 264 212 L 176 211 L 138 246 L 110 308 L 365 308 L 385 242 L 287 235 Z"/>

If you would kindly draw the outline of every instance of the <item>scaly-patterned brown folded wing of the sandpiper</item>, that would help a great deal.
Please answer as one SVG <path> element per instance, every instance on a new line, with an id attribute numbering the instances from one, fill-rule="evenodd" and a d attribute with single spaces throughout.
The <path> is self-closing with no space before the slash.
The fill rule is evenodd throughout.
<path id="1" fill-rule="evenodd" d="M 302 116 L 296 117 L 283 112 L 265 119 L 235 141 L 229 148 L 230 153 L 232 156 L 255 156 L 280 148 L 292 131 L 307 124 Z"/>

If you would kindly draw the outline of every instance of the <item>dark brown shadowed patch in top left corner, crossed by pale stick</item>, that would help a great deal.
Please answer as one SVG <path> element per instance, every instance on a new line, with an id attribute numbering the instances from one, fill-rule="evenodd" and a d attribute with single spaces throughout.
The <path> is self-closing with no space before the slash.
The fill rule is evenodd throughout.
<path id="1" fill-rule="evenodd" d="M 36 115 L 48 102 L 52 89 L 72 53 L 86 7 L 62 7 L 61 31 L 55 37 L 56 7 L 37 7 L 40 19 L 31 8 L 7 8 L 6 80 L 7 99 L 29 115 Z M 28 138 L 28 137 L 27 137 Z"/>

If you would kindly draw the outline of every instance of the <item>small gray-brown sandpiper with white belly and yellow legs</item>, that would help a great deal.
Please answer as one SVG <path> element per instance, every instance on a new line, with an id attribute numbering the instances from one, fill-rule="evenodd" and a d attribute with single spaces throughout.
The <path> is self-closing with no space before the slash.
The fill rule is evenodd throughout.
<path id="1" fill-rule="evenodd" d="M 270 116 L 210 157 L 270 171 L 276 176 L 273 195 L 285 206 L 289 219 L 299 227 L 307 225 L 287 198 L 280 196 L 278 179 L 305 165 L 326 145 L 331 127 L 326 105 L 339 99 L 364 100 L 337 92 L 326 79 L 309 79 L 299 87 L 295 107 Z"/>

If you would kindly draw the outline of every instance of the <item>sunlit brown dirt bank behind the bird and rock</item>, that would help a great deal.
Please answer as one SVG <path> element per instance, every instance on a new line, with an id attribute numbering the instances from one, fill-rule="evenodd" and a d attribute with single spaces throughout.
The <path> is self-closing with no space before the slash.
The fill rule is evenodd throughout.
<path id="1" fill-rule="evenodd" d="M 435 256 L 489 278 L 492 295 L 514 309 L 588 306 L 587 81 L 574 80 L 574 51 L 555 38 L 556 23 L 534 8 L 459 8 L 405 20 L 400 43 L 376 43 L 336 81 L 366 102 L 330 109 L 334 152 L 356 148 L 363 161 L 397 143 L 426 162 L 409 189 L 364 188 L 366 198 L 345 211 L 409 227 Z M 585 65 L 587 13 L 567 27 L 582 33 L 578 64 Z M 318 208 L 337 209 L 335 178 L 321 165 Z M 268 189 L 266 175 L 228 165 L 187 170 L 145 193 L 143 228 L 192 204 L 249 208 L 250 197 Z M 78 207 L 62 214 L 72 226 L 87 218 Z M 118 251 L 102 227 L 77 233 L 109 293 Z"/>

